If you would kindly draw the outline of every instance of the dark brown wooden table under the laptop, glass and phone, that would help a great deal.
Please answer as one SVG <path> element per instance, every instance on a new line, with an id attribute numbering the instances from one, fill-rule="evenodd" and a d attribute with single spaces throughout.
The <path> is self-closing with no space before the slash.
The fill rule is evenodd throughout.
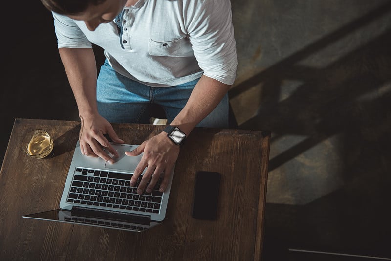
<path id="1" fill-rule="evenodd" d="M 129 144 L 161 125 L 113 124 Z M 45 129 L 55 155 L 34 159 L 23 135 Z M 141 233 L 22 218 L 56 209 L 80 122 L 16 119 L 0 172 L 0 260 L 260 260 L 270 133 L 196 128 L 179 154 L 166 220 Z M 197 170 L 221 173 L 215 221 L 191 217 Z"/>

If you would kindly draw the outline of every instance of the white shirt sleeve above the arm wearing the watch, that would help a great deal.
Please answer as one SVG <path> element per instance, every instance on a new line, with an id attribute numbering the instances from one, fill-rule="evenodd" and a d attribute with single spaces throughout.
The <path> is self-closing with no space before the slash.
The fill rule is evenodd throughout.
<path id="1" fill-rule="evenodd" d="M 230 0 L 184 1 L 185 26 L 204 75 L 232 85 L 238 65 Z"/>

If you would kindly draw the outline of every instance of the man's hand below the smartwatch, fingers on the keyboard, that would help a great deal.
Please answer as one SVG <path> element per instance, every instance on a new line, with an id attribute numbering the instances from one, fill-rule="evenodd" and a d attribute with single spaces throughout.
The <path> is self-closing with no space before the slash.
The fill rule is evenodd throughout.
<path id="1" fill-rule="evenodd" d="M 125 152 L 125 154 L 127 156 L 137 156 L 143 152 L 143 157 L 134 170 L 133 177 L 130 180 L 130 186 L 136 185 L 138 177 L 147 167 L 138 186 L 137 193 L 142 194 L 144 189 L 146 189 L 146 192 L 148 193 L 151 192 L 161 176 L 163 177 L 163 181 L 159 191 L 164 192 L 167 188 L 170 173 L 173 170 L 175 161 L 179 155 L 179 146 L 175 145 L 167 137 L 167 133 L 162 132 L 144 141 L 133 151 Z M 148 182 L 150 183 L 146 187 Z"/>

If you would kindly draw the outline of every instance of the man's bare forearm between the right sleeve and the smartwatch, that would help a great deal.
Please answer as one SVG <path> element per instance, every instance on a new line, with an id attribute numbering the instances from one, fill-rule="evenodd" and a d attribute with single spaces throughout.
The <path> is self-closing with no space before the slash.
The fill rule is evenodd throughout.
<path id="1" fill-rule="evenodd" d="M 216 108 L 229 88 L 230 85 L 202 76 L 195 85 L 186 106 L 170 125 L 178 126 L 189 135 L 194 127 Z"/>

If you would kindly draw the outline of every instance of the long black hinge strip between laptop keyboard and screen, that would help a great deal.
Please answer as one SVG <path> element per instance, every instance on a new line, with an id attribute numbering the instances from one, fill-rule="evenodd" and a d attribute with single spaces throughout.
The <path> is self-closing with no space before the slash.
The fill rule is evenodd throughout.
<path id="1" fill-rule="evenodd" d="M 110 210 L 97 210 L 87 207 L 74 206 L 71 210 L 72 215 L 82 216 L 85 218 L 103 218 L 113 221 L 135 222 L 143 225 L 149 225 L 151 218 L 147 215 L 130 214 L 126 212 L 110 211 Z"/>

